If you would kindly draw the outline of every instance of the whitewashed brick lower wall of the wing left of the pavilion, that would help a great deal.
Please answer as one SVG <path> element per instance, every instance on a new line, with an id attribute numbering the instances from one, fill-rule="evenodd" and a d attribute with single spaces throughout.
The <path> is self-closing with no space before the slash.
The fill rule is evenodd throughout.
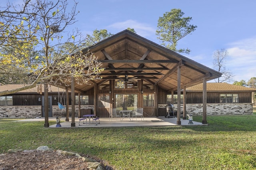
<path id="1" fill-rule="evenodd" d="M 71 116 L 71 106 L 69 116 Z M 92 109 L 93 105 L 82 105 L 81 109 Z M 52 106 L 52 117 L 66 117 L 66 109 L 59 109 L 58 106 Z M 42 106 L 0 106 L 0 118 L 36 118 L 42 117 Z M 78 105 L 75 106 L 75 117 L 78 117 Z"/>

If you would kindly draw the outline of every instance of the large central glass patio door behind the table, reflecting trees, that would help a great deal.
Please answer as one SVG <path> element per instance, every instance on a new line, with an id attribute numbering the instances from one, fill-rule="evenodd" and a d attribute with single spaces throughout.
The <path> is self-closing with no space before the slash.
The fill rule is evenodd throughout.
<path id="1" fill-rule="evenodd" d="M 137 94 L 116 94 L 116 111 L 135 110 L 138 107 Z"/>

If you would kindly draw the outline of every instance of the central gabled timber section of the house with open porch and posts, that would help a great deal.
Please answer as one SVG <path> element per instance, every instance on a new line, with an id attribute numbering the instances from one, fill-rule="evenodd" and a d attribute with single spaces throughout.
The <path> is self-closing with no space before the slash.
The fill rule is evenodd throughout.
<path id="1" fill-rule="evenodd" d="M 200 83 L 203 83 L 203 89 L 206 89 L 207 81 L 222 75 L 129 30 L 106 38 L 88 49 L 98 57 L 98 61 L 105 68 L 100 74 L 102 79 L 91 80 L 90 85 L 80 85 L 73 79 L 70 86 L 66 87 L 59 82 L 59 87 L 71 91 L 71 98 L 86 97 L 93 107 L 94 115 L 99 117 L 109 117 L 111 108 L 135 110 L 138 107 L 143 108 L 145 117 L 158 117 L 162 114 L 161 107 L 165 107 L 169 102 L 167 95 L 172 96 L 176 92 L 179 125 L 182 89 Z M 88 49 L 83 52 L 87 53 Z M 203 93 L 206 93 L 206 90 L 203 90 Z M 47 88 L 44 95 L 48 96 Z M 206 100 L 205 95 L 202 98 Z M 69 99 L 69 96 L 66 99 Z M 71 126 L 74 126 L 76 105 L 68 102 L 67 107 L 69 104 L 72 108 Z M 81 115 L 81 106 L 78 101 L 78 117 Z M 206 102 L 203 102 L 203 108 L 202 123 L 206 124 Z"/>

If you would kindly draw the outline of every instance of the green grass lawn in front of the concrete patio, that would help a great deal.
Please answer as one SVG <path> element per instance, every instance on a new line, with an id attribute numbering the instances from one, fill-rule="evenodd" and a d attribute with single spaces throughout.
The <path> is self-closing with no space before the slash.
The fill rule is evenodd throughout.
<path id="1" fill-rule="evenodd" d="M 43 128 L 44 122 L 13 121 L 0 119 L 0 153 L 47 145 L 97 156 L 117 170 L 256 169 L 256 115 L 208 116 L 208 126 L 184 127 Z"/>

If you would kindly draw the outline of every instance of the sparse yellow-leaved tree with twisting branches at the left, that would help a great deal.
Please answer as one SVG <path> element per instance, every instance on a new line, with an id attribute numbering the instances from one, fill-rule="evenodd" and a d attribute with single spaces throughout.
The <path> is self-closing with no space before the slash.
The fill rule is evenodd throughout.
<path id="1" fill-rule="evenodd" d="M 20 69 L 20 73 L 30 80 L 22 88 L 0 92 L 0 96 L 36 87 L 38 83 L 56 85 L 62 82 L 70 85 L 71 77 L 77 83 L 100 78 L 98 74 L 103 69 L 97 57 L 89 52 L 81 53 L 84 39 L 80 32 L 64 31 L 76 22 L 75 16 L 78 14 L 78 3 L 74 1 L 74 5 L 70 6 L 68 2 L 24 0 L 22 6 L 8 3 L 6 10 L 0 12 L 0 24 L 3 26 L 0 27 L 0 68 L 8 68 L 1 75 L 10 77 L 13 70 Z M 5 47 L 10 47 L 12 52 Z M 26 51 L 33 48 L 43 50 L 43 55 L 28 55 Z M 8 70 L 12 71 L 9 73 Z"/>

